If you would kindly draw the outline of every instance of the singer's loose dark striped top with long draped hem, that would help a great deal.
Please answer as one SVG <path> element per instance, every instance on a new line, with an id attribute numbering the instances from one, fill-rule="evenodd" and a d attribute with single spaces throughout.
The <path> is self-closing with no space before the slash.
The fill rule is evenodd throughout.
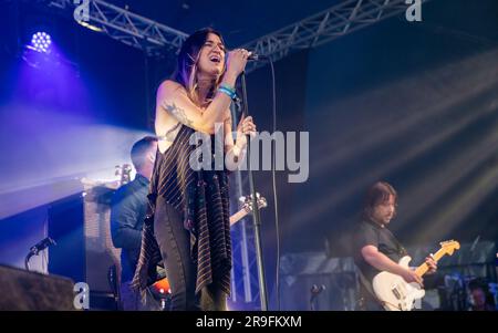
<path id="1" fill-rule="evenodd" d="M 215 136 L 209 138 L 185 125 L 181 125 L 172 146 L 164 154 L 157 152 L 151 178 L 142 251 L 132 282 L 134 288 L 142 291 L 159 278 L 155 275 L 156 266 L 162 258 L 154 238 L 154 210 L 157 196 L 162 196 L 181 212 L 184 227 L 190 232 L 190 257 L 197 267 L 196 292 L 205 285 L 214 284 L 227 294 L 230 293 L 228 175 L 225 169 L 195 170 L 190 167 L 189 158 L 199 152 L 190 143 L 193 135 L 204 136 L 205 142 L 210 139 L 211 153 L 222 154 L 222 143 L 215 144 Z M 212 158 L 212 163 L 215 160 Z"/>

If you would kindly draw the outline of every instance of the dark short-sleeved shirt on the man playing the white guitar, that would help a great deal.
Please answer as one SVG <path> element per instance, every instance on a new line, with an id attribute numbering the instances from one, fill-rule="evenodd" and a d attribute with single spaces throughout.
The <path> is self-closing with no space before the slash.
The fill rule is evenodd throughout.
<path id="1" fill-rule="evenodd" d="M 367 263 L 363 258 L 361 250 L 366 246 L 376 247 L 380 252 L 387 256 L 394 262 L 398 262 L 400 259 L 405 257 L 407 253 L 396 237 L 394 237 L 387 228 L 369 219 L 363 219 L 360 222 L 353 237 L 354 263 L 366 279 L 366 281 L 364 281 L 364 279 L 361 281 L 369 283 L 366 287 L 364 283 L 361 283 L 361 294 L 365 299 L 372 299 L 370 292 L 372 290 L 372 280 L 381 271 Z"/>

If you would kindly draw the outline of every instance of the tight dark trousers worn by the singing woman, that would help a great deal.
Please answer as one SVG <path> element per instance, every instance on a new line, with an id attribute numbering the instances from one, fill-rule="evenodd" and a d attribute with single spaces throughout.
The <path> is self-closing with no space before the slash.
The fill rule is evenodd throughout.
<path id="1" fill-rule="evenodd" d="M 190 257 L 190 233 L 181 214 L 158 197 L 154 212 L 154 236 L 160 249 L 172 289 L 172 311 L 226 310 L 226 294 L 212 287 L 196 294 L 197 268 Z"/>

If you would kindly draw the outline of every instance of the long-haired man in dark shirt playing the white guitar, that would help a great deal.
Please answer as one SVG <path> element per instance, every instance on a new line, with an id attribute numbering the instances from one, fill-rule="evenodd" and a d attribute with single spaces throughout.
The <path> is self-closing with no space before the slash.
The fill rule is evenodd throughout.
<path id="1" fill-rule="evenodd" d="M 353 237 L 354 262 L 360 270 L 359 310 L 383 310 L 376 299 L 372 280 L 381 271 L 401 275 L 406 282 L 422 285 L 423 280 L 413 270 L 400 266 L 397 262 L 406 256 L 406 250 L 396 237 L 387 229 L 396 212 L 397 194 L 385 181 L 377 181 L 367 191 L 363 208 L 362 220 Z M 427 257 L 429 273 L 437 269 L 435 261 Z"/>

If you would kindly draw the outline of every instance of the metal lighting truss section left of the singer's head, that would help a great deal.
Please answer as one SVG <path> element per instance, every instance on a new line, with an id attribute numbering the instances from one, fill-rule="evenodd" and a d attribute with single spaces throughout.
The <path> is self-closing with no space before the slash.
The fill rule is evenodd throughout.
<path id="1" fill-rule="evenodd" d="M 126 9 L 101 0 L 51 0 L 50 7 L 59 9 L 82 8 L 87 3 L 89 15 L 80 24 L 106 33 L 120 42 L 144 50 L 148 55 L 176 52 L 188 37 L 185 32 L 149 20 Z M 83 13 L 83 12 L 81 12 Z"/>

